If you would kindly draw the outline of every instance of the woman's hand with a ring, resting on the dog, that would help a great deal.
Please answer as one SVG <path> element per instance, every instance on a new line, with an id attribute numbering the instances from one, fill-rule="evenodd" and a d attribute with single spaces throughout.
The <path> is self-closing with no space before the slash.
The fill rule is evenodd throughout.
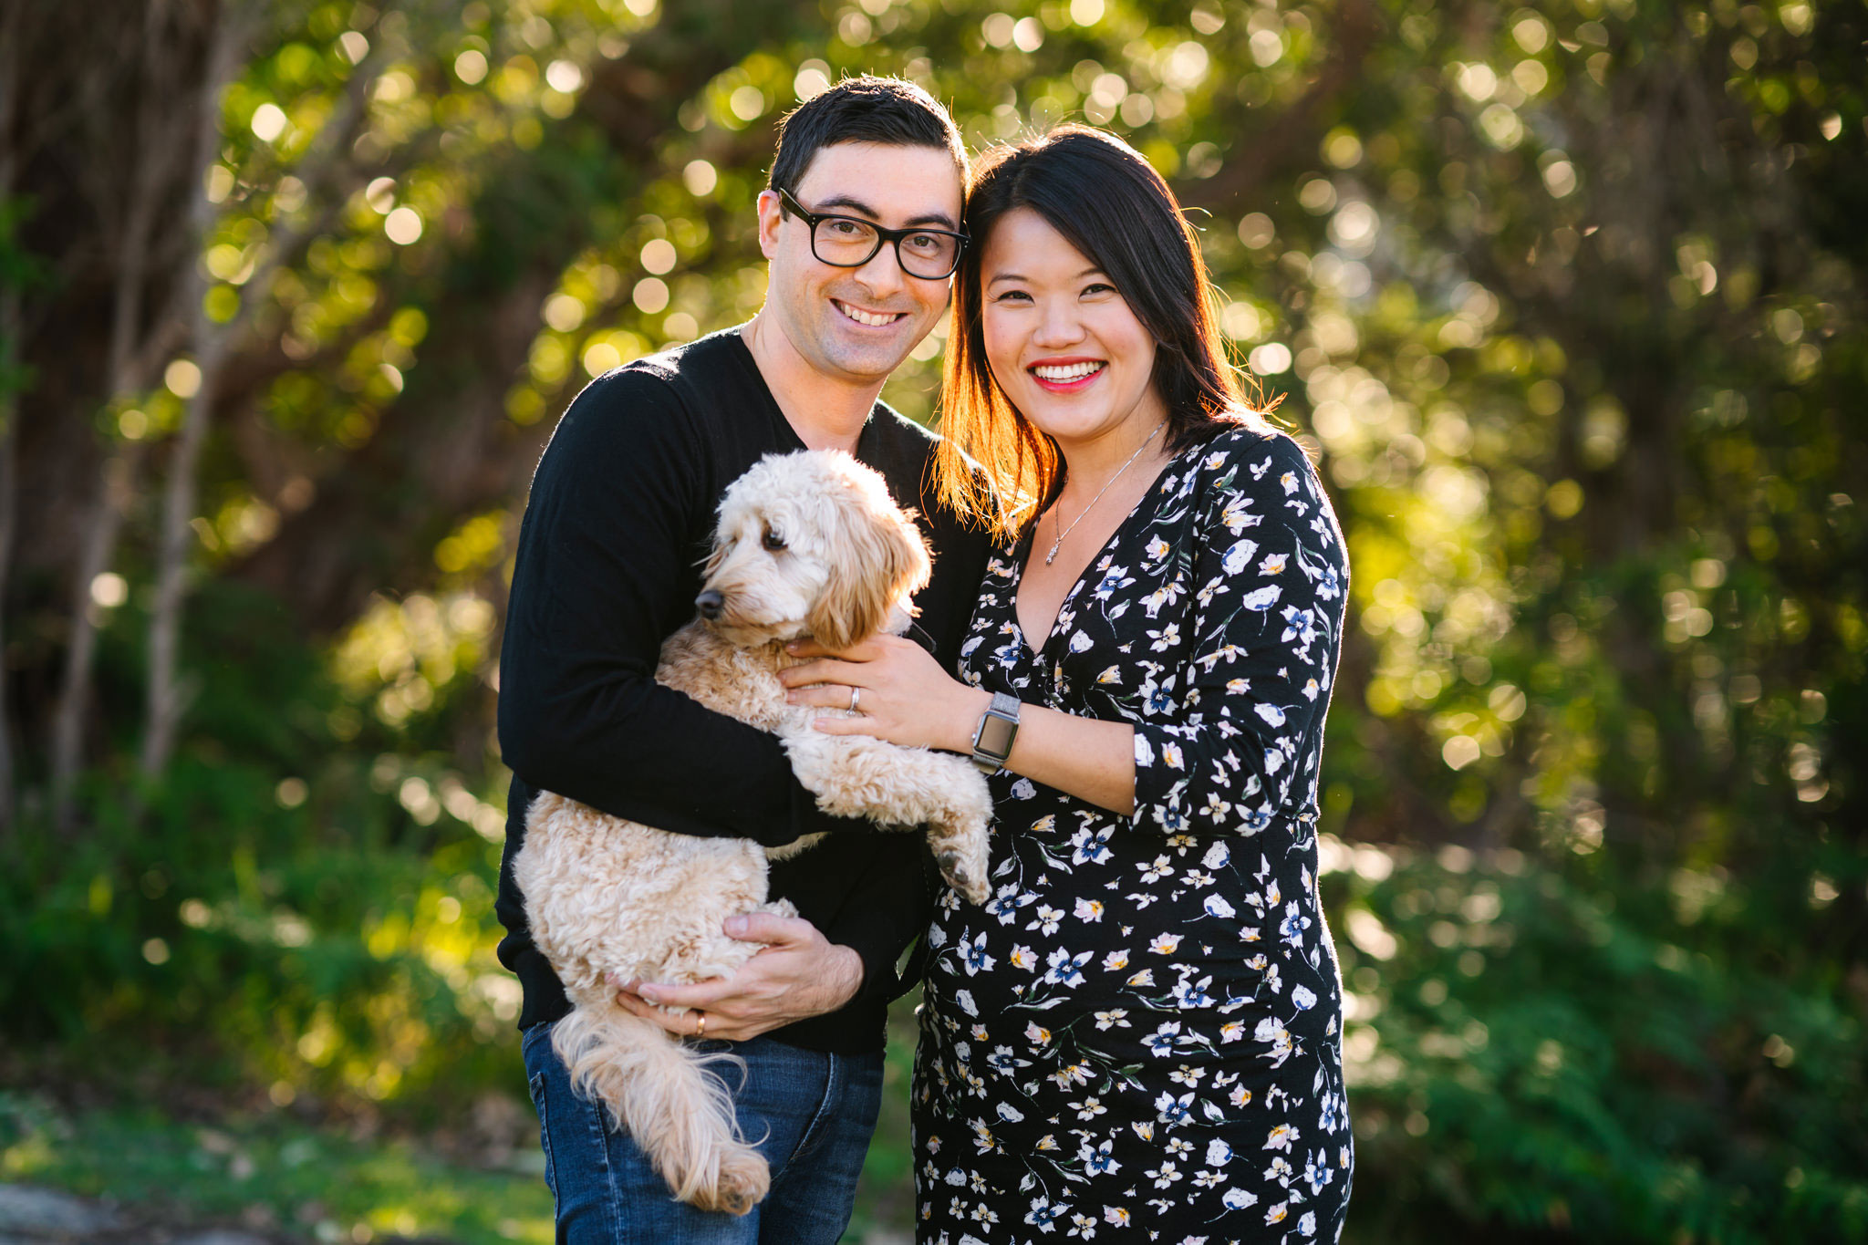
<path id="1" fill-rule="evenodd" d="M 857 689 L 856 717 L 816 719 L 816 728 L 828 735 L 874 735 L 889 743 L 971 752 L 973 728 L 992 704 L 990 692 L 953 678 L 932 653 L 902 636 L 870 636 L 841 653 L 816 640 L 798 640 L 788 651 L 807 659 L 779 672 L 790 704 L 848 709 L 850 689 Z"/>

